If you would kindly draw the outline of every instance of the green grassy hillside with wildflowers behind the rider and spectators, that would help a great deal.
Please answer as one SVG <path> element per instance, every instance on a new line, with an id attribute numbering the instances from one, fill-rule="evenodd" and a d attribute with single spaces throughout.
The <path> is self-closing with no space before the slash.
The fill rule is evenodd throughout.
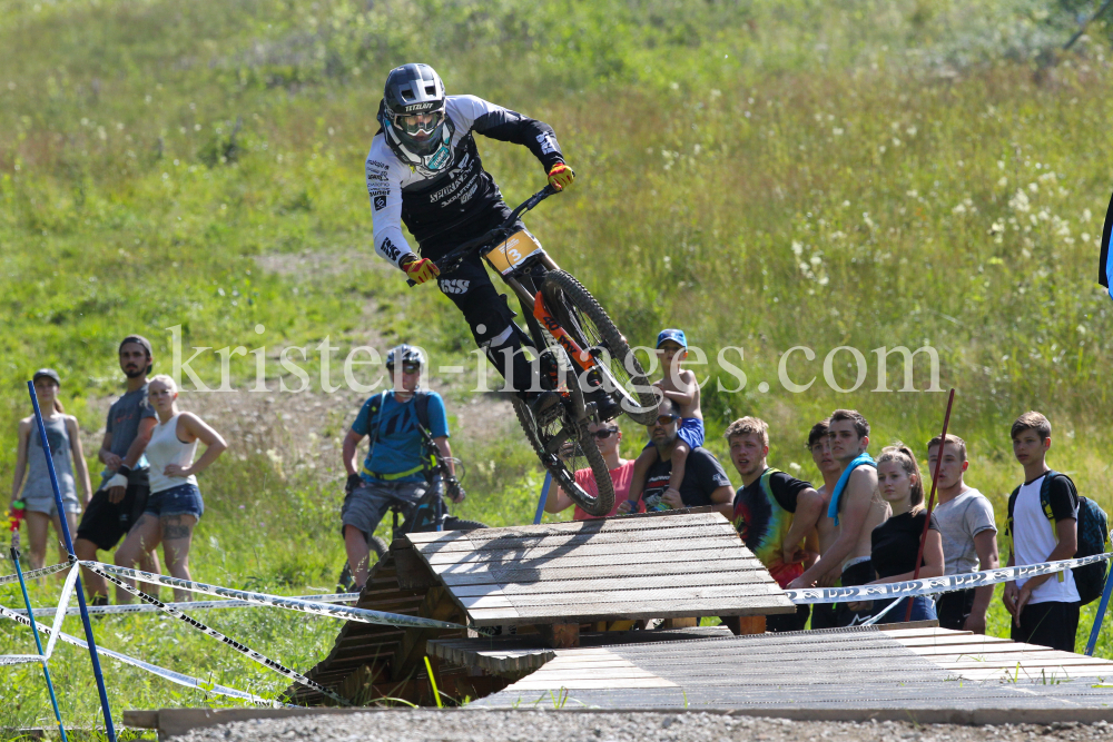
<path id="1" fill-rule="evenodd" d="M 701 376 L 718 370 L 720 348 L 743 349 L 735 364 L 746 387 L 723 392 L 712 378 L 703 390 L 717 453 L 726 423 L 759 415 L 771 425 L 771 463 L 815 477 L 808 427 L 851 406 L 874 424 L 875 449 L 900 438 L 923 455 L 945 397 L 870 393 L 870 350 L 927 343 L 943 388 L 958 389 L 952 429 L 971 443 L 968 481 L 998 522 L 1021 475 L 1008 423 L 1028 408 L 1055 426 L 1052 465 L 1113 509 L 1104 373 L 1113 305 L 1094 284 L 1113 165 L 1102 136 L 1113 112 L 1107 29 L 1095 24 L 1072 53 L 1051 53 L 1089 8 L 0 0 L 0 482 L 14 464 L 32 370 L 58 368 L 67 409 L 97 431 L 91 400 L 119 390 L 112 358 L 127 332 L 154 340 L 159 370 L 169 370 L 167 328 L 177 325 L 189 346 L 266 345 L 272 385 L 276 349 L 312 348 L 326 335 L 341 357 L 368 339 L 381 348 L 408 339 L 434 364 L 474 362 L 451 304 L 429 287 L 406 289 L 370 249 L 362 166 L 373 113 L 386 70 L 420 58 L 450 91 L 554 126 L 578 182 L 535 211 L 531 229 L 631 339 L 683 327 L 708 352 Z M 524 149 L 482 138 L 480 148 L 508 200 L 543 182 Z M 264 270 L 259 258 L 275 255 L 314 256 L 317 268 Z M 790 394 L 778 360 L 798 345 L 817 357 L 794 356 L 791 376 L 818 379 Z M 869 364 L 850 394 L 823 378 L 824 357 L 839 346 Z M 833 368 L 843 386 L 854 380 L 848 359 Z M 316 365 L 306 366 L 315 379 Z M 195 367 L 217 383 L 213 356 Z M 234 358 L 230 370 L 237 387 L 250 386 L 254 358 Z M 889 370 L 895 388 L 896 358 Z M 450 414 L 466 418 L 470 392 L 449 396 Z M 348 412 L 323 409 L 318 433 L 335 436 Z M 276 425 L 252 445 L 234 442 L 206 473 L 199 580 L 332 588 L 343 561 L 341 476 L 335 464 L 311 468 L 298 457 L 303 433 Z M 626 433 L 632 452 L 641 434 Z M 541 475 L 524 441 L 453 445 L 470 469 L 459 514 L 529 522 Z M 36 604 L 49 604 L 52 590 L 37 587 Z M 0 600 L 19 602 L 10 592 Z M 301 670 L 337 629 L 270 610 L 207 620 Z M 993 633 L 1007 633 L 999 602 L 991 620 Z M 73 621 L 67 627 L 79 633 Z M 106 619 L 98 637 L 257 693 L 286 685 L 156 616 Z M 1106 632 L 1099 653 L 1113 656 L 1111 642 Z M 28 646 L 22 630 L 0 634 L 0 652 Z M 118 710 L 219 704 L 106 666 Z M 91 724 L 87 660 L 60 647 L 55 667 L 67 719 Z M 49 725 L 37 671 L 4 677 L 0 706 L 20 724 Z"/>

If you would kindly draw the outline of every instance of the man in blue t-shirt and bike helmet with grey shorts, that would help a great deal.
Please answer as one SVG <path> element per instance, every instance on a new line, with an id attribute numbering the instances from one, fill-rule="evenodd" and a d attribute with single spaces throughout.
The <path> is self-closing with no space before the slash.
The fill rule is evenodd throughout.
<path id="1" fill-rule="evenodd" d="M 449 421 L 444 402 L 436 392 L 418 387 L 422 357 L 417 348 L 400 345 L 386 355 L 386 372 L 393 387 L 367 399 L 344 438 L 346 496 L 341 508 L 344 547 L 357 591 L 367 582 L 368 541 L 391 505 L 415 506 L 429 488 L 430 467 L 422 431 L 453 475 L 449 447 Z M 365 437 L 371 447 L 363 466 L 356 464 L 356 448 Z M 459 494 L 457 494 L 459 493 Z M 453 502 L 462 491 L 449 493 Z"/>

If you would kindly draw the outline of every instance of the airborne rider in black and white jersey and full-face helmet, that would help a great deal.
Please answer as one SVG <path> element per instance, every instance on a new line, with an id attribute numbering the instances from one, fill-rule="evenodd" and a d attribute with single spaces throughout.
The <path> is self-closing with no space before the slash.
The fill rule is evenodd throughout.
<path id="1" fill-rule="evenodd" d="M 444 275 L 433 263 L 510 217 L 499 186 L 483 169 L 473 132 L 528 147 L 550 185 L 563 190 L 574 174 L 564 164 L 552 127 L 475 96 L 447 96 L 427 65 L 391 70 L 377 118 L 381 128 L 366 162 L 375 251 L 418 284 L 437 279 L 491 363 L 520 394 L 528 394 L 533 376 L 521 353 L 514 313 L 495 290 L 480 256 L 469 256 Z M 403 222 L 417 240 L 420 257 L 403 237 Z M 510 375 L 508 355 L 513 359 Z M 545 407 L 554 396 L 535 404 Z"/>

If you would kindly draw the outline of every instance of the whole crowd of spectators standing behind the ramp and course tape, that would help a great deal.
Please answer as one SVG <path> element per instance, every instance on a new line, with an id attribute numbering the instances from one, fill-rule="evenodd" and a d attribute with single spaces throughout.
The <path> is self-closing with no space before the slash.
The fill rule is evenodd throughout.
<path id="1" fill-rule="evenodd" d="M 638 456 L 622 457 L 623 435 L 614 422 L 591 427 L 614 484 L 615 506 L 609 515 L 696 507 L 721 513 L 785 588 L 903 582 L 917 573 L 933 577 L 999 566 L 993 506 L 966 483 L 968 448 L 957 435 L 936 436 L 922 449 L 928 472 L 938 465 L 937 503 L 930 516 L 925 507 L 930 479 L 925 481 L 916 451 L 895 443 L 875 459 L 868 452 L 869 423 L 853 409 L 834 410 L 807 435 L 806 448 L 823 477 L 818 487 L 770 465 L 771 431 L 766 422 L 748 416 L 732 422 L 725 437 L 730 463 L 741 478 L 736 489 L 722 464 L 703 447 L 699 384 L 683 368 L 684 333 L 662 330 L 657 354 L 664 370 L 656 383 L 660 410 L 647 426 L 649 441 Z M 205 511 L 197 475 L 227 444 L 200 417 L 179 408 L 169 376 L 148 377 L 154 357 L 146 338 L 124 338 L 118 360 L 126 389 L 108 412 L 97 454 L 104 469 L 96 489 L 77 419 L 66 415 L 58 400 L 62 378 L 49 368 L 35 374 L 65 512 L 58 512 L 35 419 L 28 417 L 19 423 L 11 499 L 13 505 L 22 501 L 27 514 L 30 564 L 43 565 L 48 530 L 52 524 L 60 542 L 60 518 L 66 517 L 76 533 L 79 558 L 96 560 L 98 552 L 115 548 L 116 564 L 159 572 L 156 550 L 161 545 L 169 573 L 188 580 L 190 541 Z M 345 439 L 348 478 L 342 535 L 355 588 L 367 578 L 368 544 L 392 503 L 415 506 L 425 494 L 429 449 L 422 448 L 422 432 L 433 454 L 452 471 L 444 403 L 436 393 L 417 387 L 421 364 L 415 348 L 392 349 L 387 370 L 396 376 L 394 388 L 366 402 Z M 1051 423 L 1036 412 L 1021 415 L 1011 429 L 1023 481 L 1008 502 L 1008 566 L 1071 558 L 1078 548 L 1083 501 L 1070 477 L 1047 465 L 1051 434 Z M 356 447 L 364 438 L 371 446 L 359 466 Z M 198 443 L 205 446 L 200 456 Z M 590 469 L 574 476 L 595 494 Z M 459 491 L 453 499 L 462 497 Z M 572 506 L 558 486 L 544 503 L 549 513 Z M 573 517 L 591 516 L 575 507 Z M 65 548 L 60 551 L 65 558 Z M 107 604 L 106 581 L 88 571 L 83 580 L 92 604 Z M 188 595 L 175 590 L 176 600 Z M 119 603 L 131 600 L 122 588 L 116 596 Z M 946 593 L 938 600 L 905 598 L 880 621 L 904 621 L 910 613 L 913 620 L 937 619 L 947 629 L 985 633 L 992 597 L 991 585 Z M 1074 649 L 1081 601 L 1071 570 L 1008 582 L 1003 594 L 1014 640 L 1066 651 Z M 887 605 L 879 603 L 819 604 L 814 610 L 800 605 L 795 614 L 768 616 L 767 630 L 800 631 L 809 621 L 811 629 L 861 624 Z"/>

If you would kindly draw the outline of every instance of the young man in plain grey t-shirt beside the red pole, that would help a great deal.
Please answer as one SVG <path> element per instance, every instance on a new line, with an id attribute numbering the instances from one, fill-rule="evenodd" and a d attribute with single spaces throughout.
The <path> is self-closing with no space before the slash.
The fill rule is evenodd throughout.
<path id="1" fill-rule="evenodd" d="M 939 436 L 927 444 L 927 466 L 935 472 L 939 458 Z M 939 465 L 939 504 L 935 517 L 943 535 L 944 574 L 963 574 L 1001 566 L 997 557 L 997 526 L 993 505 L 985 496 L 963 481 L 969 462 L 966 442 L 947 435 Z M 944 593 L 936 602 L 939 626 L 985 633 L 985 614 L 993 600 L 993 585 Z"/>

